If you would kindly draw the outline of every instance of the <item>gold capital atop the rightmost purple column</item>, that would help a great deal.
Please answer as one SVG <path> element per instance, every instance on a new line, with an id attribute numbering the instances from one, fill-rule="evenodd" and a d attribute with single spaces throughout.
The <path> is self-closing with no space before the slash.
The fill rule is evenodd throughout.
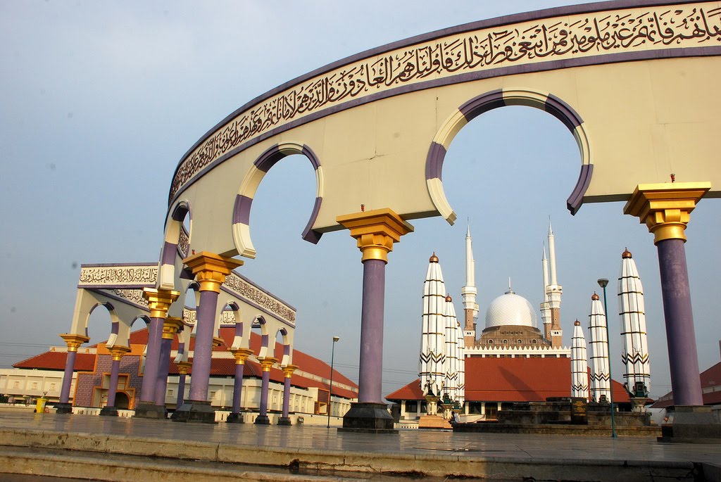
<path id="1" fill-rule="evenodd" d="M 638 184 L 624 206 L 624 214 L 636 216 L 653 233 L 653 243 L 666 239 L 686 242 L 686 224 L 696 202 L 711 189 L 710 182 Z"/>

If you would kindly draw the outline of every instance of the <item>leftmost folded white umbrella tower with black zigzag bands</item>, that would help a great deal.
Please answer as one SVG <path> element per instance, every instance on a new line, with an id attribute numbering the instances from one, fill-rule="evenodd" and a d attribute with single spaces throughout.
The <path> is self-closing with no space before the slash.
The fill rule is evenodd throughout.
<path id="1" fill-rule="evenodd" d="M 428 260 L 428 271 L 423 282 L 423 331 L 420 336 L 418 372 L 424 396 L 443 395 L 441 390 L 446 377 L 446 316 L 443 316 L 445 305 L 446 284 L 443 282 L 438 256 L 433 253 Z M 432 405 L 435 406 L 435 403 Z M 435 411 L 428 415 L 435 415 Z"/>

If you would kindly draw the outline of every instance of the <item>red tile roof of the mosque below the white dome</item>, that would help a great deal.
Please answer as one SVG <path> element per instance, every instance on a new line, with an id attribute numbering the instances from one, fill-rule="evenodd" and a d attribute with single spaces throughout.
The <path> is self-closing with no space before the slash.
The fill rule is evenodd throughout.
<path id="1" fill-rule="evenodd" d="M 571 391 L 570 358 L 466 358 L 466 401 L 544 401 Z M 614 381 L 614 401 L 629 401 Z M 386 396 L 389 401 L 423 400 L 415 380 Z"/>

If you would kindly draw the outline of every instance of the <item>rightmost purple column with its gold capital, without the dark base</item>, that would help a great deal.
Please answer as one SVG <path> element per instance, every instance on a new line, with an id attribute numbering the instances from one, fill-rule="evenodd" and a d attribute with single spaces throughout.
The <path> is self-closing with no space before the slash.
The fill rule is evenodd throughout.
<path id="1" fill-rule="evenodd" d="M 709 182 L 639 184 L 624 206 L 653 233 L 658 250 L 674 405 L 703 405 L 684 231 L 709 189 Z"/>

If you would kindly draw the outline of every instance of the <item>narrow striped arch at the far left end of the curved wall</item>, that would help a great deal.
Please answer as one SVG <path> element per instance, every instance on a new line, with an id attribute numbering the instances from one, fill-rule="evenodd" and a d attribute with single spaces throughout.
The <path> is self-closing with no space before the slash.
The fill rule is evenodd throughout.
<path id="1" fill-rule="evenodd" d="M 185 231 L 183 220 L 189 216 L 190 229 Z M 177 258 L 183 259 L 190 249 L 190 237 L 193 233 L 193 216 L 190 213 L 190 203 L 180 200 L 175 203 L 165 225 L 163 248 L 160 254 L 160 269 L 158 272 L 158 287 L 164 290 L 173 290 L 176 286 L 175 264 Z"/>

